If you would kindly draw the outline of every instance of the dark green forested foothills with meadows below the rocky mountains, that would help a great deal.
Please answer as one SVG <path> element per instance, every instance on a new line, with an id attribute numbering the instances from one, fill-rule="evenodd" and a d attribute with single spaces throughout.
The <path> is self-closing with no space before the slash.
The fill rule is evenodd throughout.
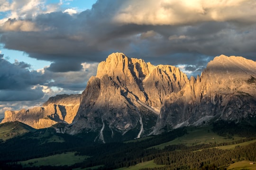
<path id="1" fill-rule="evenodd" d="M 93 142 L 94 136 L 28 131 L 0 143 L 0 169 L 221 170 L 256 161 L 256 127 L 232 122 L 107 144 Z"/>

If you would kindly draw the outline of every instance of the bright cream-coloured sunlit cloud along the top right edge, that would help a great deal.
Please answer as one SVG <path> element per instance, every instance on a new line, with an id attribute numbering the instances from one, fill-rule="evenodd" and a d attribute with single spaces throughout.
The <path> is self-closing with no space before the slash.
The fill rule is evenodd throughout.
<path id="1" fill-rule="evenodd" d="M 255 0 L 127 0 L 114 21 L 139 25 L 188 25 L 206 21 L 254 23 Z"/>

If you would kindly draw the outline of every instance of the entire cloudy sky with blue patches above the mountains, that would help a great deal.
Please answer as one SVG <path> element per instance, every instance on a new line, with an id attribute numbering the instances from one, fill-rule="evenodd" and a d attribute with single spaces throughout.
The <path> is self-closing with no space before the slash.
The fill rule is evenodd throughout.
<path id="1" fill-rule="evenodd" d="M 82 93 L 113 52 L 197 76 L 255 45 L 255 0 L 0 0 L 0 118 Z"/>

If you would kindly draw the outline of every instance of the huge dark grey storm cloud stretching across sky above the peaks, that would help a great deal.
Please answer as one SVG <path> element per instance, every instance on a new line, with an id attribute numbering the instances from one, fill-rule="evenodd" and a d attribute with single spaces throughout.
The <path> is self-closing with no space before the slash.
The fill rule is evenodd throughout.
<path id="1" fill-rule="evenodd" d="M 99 62 L 116 51 L 197 68 L 220 54 L 256 60 L 254 1 L 203 2 L 98 0 L 77 15 L 52 12 L 9 20 L 0 42 L 52 61 L 53 72 L 79 71 L 82 62 Z"/>

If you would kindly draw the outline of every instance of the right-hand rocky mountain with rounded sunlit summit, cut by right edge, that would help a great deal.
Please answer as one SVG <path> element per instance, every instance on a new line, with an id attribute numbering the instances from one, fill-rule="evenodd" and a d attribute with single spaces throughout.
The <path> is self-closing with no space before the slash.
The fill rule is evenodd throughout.
<path id="1" fill-rule="evenodd" d="M 154 133 L 216 119 L 251 123 L 255 117 L 256 62 L 221 55 L 165 100 Z"/>

